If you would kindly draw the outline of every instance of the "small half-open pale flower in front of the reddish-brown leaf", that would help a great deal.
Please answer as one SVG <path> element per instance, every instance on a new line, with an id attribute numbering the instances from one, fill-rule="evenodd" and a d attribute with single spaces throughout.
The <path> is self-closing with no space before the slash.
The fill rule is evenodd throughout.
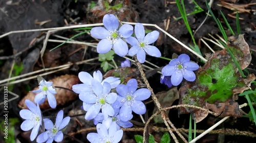
<path id="1" fill-rule="evenodd" d="M 38 93 L 35 96 L 35 103 L 42 104 L 46 100 L 46 96 L 49 102 L 49 105 L 51 108 L 56 108 L 56 99 L 54 97 L 54 94 L 56 93 L 56 90 L 52 87 L 51 81 L 41 80 L 39 82 L 39 89 L 32 91 L 33 93 Z"/>

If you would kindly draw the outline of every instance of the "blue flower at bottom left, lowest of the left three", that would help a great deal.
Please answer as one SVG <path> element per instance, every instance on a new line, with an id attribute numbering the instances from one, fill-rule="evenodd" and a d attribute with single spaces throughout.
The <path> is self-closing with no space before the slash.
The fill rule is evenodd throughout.
<path id="1" fill-rule="evenodd" d="M 63 140 L 63 133 L 61 129 L 65 128 L 70 121 L 70 117 L 66 117 L 63 120 L 63 110 L 60 110 L 57 114 L 55 125 L 49 119 L 44 119 L 46 132 L 43 132 L 38 135 L 36 142 L 45 142 L 51 143 L 53 140 L 60 142 Z"/>

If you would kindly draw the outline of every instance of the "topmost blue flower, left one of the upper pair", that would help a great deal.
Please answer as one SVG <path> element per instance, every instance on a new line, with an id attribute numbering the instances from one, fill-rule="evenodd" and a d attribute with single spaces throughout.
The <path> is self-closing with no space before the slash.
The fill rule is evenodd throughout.
<path id="1" fill-rule="evenodd" d="M 133 34 L 133 26 L 123 24 L 119 30 L 119 21 L 113 14 L 106 14 L 103 17 L 104 27 L 94 27 L 91 35 L 95 38 L 102 39 L 97 45 L 98 53 L 107 53 L 114 47 L 114 51 L 119 56 L 128 53 L 128 46 L 121 38 L 129 38 Z"/>

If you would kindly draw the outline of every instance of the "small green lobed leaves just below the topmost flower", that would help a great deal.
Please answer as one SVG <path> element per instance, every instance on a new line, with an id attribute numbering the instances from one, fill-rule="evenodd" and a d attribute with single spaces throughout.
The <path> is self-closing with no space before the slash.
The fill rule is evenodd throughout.
<path id="1" fill-rule="evenodd" d="M 111 69 L 111 67 L 109 66 L 109 62 L 114 59 L 114 54 L 115 52 L 113 50 L 110 50 L 105 54 L 99 54 L 99 61 L 102 62 L 100 64 L 100 67 L 103 69 L 104 72 Z"/>

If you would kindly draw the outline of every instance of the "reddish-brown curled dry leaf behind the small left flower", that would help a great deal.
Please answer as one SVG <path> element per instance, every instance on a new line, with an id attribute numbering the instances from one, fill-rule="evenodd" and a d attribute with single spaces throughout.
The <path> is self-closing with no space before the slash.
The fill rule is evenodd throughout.
<path id="1" fill-rule="evenodd" d="M 70 90 L 72 90 L 72 85 L 79 83 L 79 79 L 77 76 L 69 75 L 69 74 L 55 77 L 54 79 L 51 79 L 49 81 L 53 82 L 54 87 L 63 87 L 63 88 L 67 88 Z M 38 89 L 38 87 L 34 88 L 34 90 L 37 90 L 37 89 Z M 55 94 L 54 96 L 57 101 L 57 106 L 64 105 L 67 102 L 70 102 L 77 98 L 77 94 L 72 91 L 56 88 L 56 92 L 57 92 L 57 94 Z M 25 104 L 25 100 L 29 99 L 34 102 L 36 94 L 37 93 L 29 92 L 22 100 L 19 101 L 18 107 L 27 109 L 28 107 Z M 47 108 L 50 108 L 50 105 L 48 103 L 48 99 L 46 98 L 46 101 L 44 103 L 40 104 L 40 109 L 47 109 Z"/>

